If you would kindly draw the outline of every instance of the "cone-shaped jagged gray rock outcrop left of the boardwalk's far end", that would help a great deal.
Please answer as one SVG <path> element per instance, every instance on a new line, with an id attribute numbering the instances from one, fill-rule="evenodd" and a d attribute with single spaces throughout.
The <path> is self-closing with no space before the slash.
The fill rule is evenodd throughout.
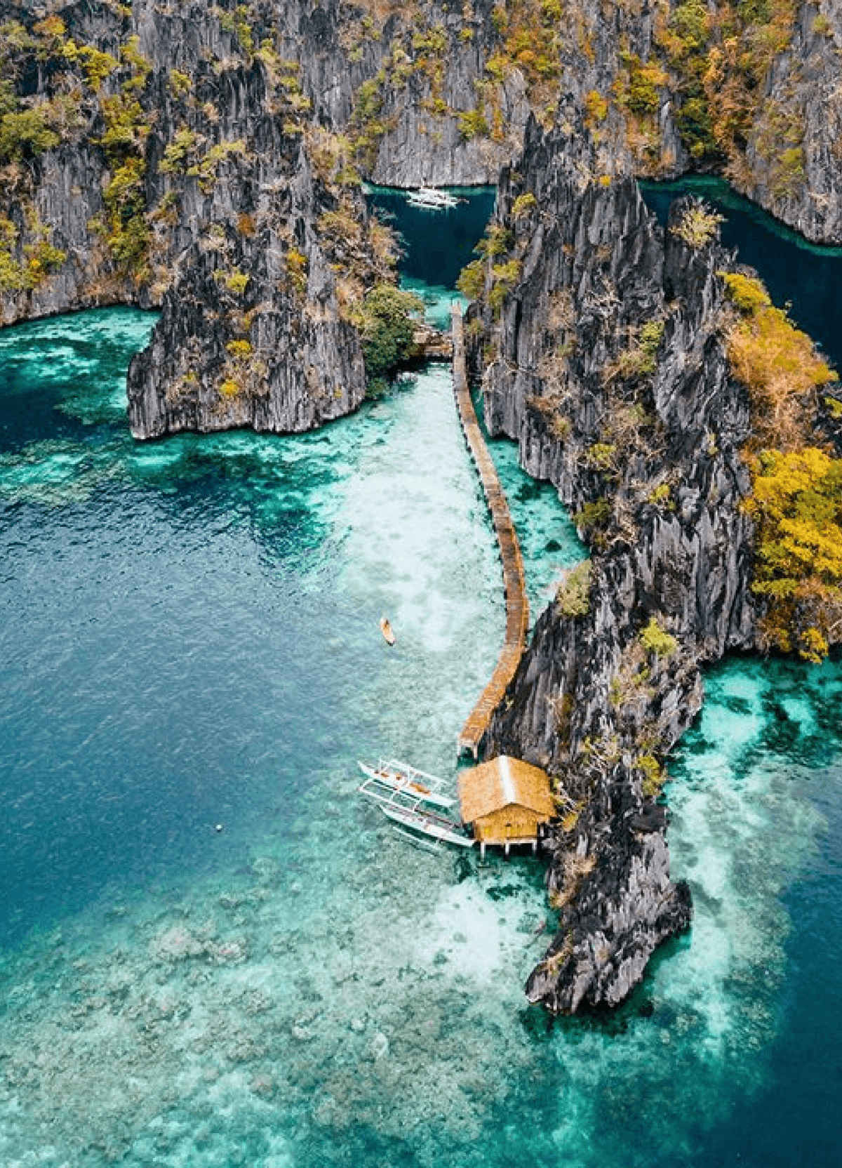
<path id="1" fill-rule="evenodd" d="M 364 207 L 321 182 L 301 138 L 266 112 L 262 70 L 237 81 L 228 132 L 239 131 L 242 139 L 229 140 L 245 147 L 231 152 L 224 202 L 215 200 L 208 234 L 181 257 L 152 341 L 130 368 L 138 438 L 246 425 L 309 430 L 348 413 L 364 394 L 360 338 L 342 315 L 336 277 L 340 248 L 350 252 L 355 243 L 359 276 L 375 270 Z"/>

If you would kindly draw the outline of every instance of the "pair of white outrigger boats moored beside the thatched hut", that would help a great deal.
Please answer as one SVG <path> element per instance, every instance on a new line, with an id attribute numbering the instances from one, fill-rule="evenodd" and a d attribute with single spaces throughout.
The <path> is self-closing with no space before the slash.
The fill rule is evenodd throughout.
<path id="1" fill-rule="evenodd" d="M 359 763 L 359 766 L 366 776 L 361 794 L 377 804 L 401 835 L 412 843 L 431 848 L 441 843 L 473 847 L 475 841 L 465 834 L 462 825 L 441 814 L 443 809 L 452 807 L 454 800 L 443 794 L 443 783 L 434 774 L 395 759 L 381 760 L 377 766 L 369 766 L 368 763 Z M 434 842 L 429 843 L 423 836 Z"/>

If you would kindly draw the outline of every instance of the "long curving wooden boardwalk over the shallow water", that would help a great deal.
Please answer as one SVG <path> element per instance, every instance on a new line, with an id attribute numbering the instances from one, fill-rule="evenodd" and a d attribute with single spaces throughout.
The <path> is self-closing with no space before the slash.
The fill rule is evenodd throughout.
<path id="1" fill-rule="evenodd" d="M 459 735 L 459 752 L 471 751 L 479 758 L 480 744 L 488 729 L 492 714 L 500 704 L 506 687 L 512 681 L 527 644 L 529 626 L 529 602 L 523 573 L 523 558 L 517 542 L 515 526 L 512 522 L 509 506 L 506 502 L 503 488 L 500 485 L 496 467 L 488 453 L 480 424 L 476 420 L 474 403 L 468 390 L 467 370 L 465 368 L 465 338 L 462 334 L 462 314 L 458 305 L 453 307 L 453 392 L 459 409 L 465 438 L 471 457 L 482 482 L 492 522 L 500 545 L 500 557 L 503 563 L 503 591 L 506 593 L 506 639 L 500 651 L 492 680 L 482 690 L 476 705 L 471 711 L 467 722 Z"/>

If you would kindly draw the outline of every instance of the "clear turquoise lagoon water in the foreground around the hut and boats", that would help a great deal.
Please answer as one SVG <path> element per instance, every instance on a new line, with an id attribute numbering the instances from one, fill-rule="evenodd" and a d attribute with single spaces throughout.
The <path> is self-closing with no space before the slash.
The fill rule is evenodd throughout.
<path id="1" fill-rule="evenodd" d="M 549 1024 L 540 865 L 356 794 L 381 751 L 453 776 L 502 637 L 446 370 L 138 446 L 151 322 L 0 333 L 4 1168 L 838 1162 L 840 662 L 711 673 L 668 788 L 693 931 Z M 579 548 L 495 451 L 536 606 Z"/>

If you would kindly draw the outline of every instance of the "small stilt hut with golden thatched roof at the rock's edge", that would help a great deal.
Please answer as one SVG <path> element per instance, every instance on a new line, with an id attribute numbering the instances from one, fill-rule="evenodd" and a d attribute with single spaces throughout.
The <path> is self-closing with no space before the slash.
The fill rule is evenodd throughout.
<path id="1" fill-rule="evenodd" d="M 461 772 L 459 805 L 482 850 L 487 843 L 507 851 L 512 843 L 535 846 L 538 823 L 556 814 L 549 774 L 508 755 Z"/>

